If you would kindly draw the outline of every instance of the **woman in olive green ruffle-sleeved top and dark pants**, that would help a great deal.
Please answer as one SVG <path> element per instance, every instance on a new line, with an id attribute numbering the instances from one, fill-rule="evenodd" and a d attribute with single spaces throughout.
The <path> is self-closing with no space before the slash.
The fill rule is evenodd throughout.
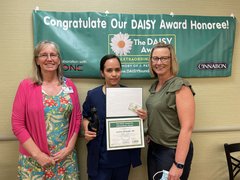
<path id="1" fill-rule="evenodd" d="M 158 43 L 153 47 L 149 70 L 157 80 L 146 101 L 148 177 L 152 179 L 166 170 L 168 180 L 186 180 L 193 157 L 195 93 L 188 81 L 176 76 L 178 64 L 171 44 Z"/>

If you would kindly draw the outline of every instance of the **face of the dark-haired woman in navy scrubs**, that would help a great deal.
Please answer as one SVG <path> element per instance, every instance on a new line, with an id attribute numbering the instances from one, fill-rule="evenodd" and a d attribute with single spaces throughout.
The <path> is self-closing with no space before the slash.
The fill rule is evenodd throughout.
<path id="1" fill-rule="evenodd" d="M 108 59 L 104 64 L 104 69 L 101 71 L 101 75 L 105 78 L 107 87 L 119 86 L 121 78 L 121 66 L 118 59 Z"/>

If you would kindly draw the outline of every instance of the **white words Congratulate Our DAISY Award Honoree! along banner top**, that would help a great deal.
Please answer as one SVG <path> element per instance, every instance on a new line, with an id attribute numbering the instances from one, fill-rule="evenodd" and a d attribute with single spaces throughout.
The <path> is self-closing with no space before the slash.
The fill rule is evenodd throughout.
<path id="1" fill-rule="evenodd" d="M 60 20 L 51 18 L 49 16 L 44 16 L 43 18 L 44 24 L 47 26 L 59 27 L 63 30 L 68 30 L 70 28 L 92 28 L 92 29 L 106 29 L 107 22 L 105 20 L 101 20 L 100 18 L 92 19 L 88 17 L 87 19 L 79 18 L 78 20 Z M 118 21 L 116 18 L 111 20 L 111 27 L 113 29 L 126 29 L 127 21 Z M 155 29 L 156 20 L 131 20 L 131 28 L 132 29 Z M 187 20 L 183 21 L 172 21 L 167 22 L 164 19 L 161 20 L 159 28 L 160 29 L 187 29 Z M 198 22 L 196 20 L 190 21 L 190 29 L 196 30 L 214 30 L 214 29 L 229 29 L 228 20 L 223 22 Z"/>

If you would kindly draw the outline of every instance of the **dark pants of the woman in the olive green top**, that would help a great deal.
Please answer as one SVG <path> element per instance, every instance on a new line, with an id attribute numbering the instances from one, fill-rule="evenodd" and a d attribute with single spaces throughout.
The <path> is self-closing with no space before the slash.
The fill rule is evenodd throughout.
<path id="1" fill-rule="evenodd" d="M 176 149 L 168 148 L 150 141 L 148 145 L 147 164 L 148 179 L 152 180 L 154 174 L 158 171 L 169 171 L 175 160 Z M 189 151 L 185 160 L 183 174 L 181 180 L 187 180 L 192 164 L 193 143 L 190 143 Z M 159 178 L 160 179 L 160 178 Z"/>

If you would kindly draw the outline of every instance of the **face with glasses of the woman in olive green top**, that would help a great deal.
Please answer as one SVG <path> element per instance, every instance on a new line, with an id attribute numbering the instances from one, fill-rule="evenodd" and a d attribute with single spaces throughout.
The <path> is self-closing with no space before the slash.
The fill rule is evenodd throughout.
<path id="1" fill-rule="evenodd" d="M 156 48 L 151 57 L 152 70 L 157 76 L 171 76 L 171 54 L 168 48 Z"/>

